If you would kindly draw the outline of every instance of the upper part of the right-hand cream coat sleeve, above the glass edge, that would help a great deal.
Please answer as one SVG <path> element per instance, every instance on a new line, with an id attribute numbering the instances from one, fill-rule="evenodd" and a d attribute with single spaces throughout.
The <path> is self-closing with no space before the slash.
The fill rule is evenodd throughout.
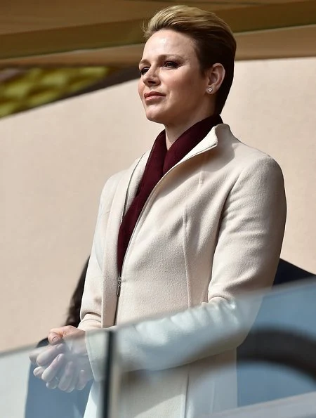
<path id="1" fill-rule="evenodd" d="M 209 301 L 270 287 L 284 235 L 287 205 L 282 171 L 268 155 L 239 174 L 223 208 L 213 256 Z"/>

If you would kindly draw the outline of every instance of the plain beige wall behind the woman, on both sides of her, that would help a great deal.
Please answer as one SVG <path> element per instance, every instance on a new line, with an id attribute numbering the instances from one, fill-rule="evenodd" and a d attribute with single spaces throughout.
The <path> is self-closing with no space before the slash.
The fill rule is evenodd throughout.
<path id="1" fill-rule="evenodd" d="M 237 63 L 223 112 L 245 143 L 284 171 L 282 256 L 316 273 L 316 59 Z M 0 351 L 62 324 L 91 248 L 107 176 L 150 147 L 137 81 L 0 120 Z"/>

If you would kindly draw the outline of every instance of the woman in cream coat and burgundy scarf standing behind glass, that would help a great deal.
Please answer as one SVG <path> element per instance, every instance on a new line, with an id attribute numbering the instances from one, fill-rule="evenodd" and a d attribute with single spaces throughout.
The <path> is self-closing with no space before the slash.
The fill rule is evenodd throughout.
<path id="1" fill-rule="evenodd" d="M 145 39 L 138 92 L 147 119 L 165 129 L 105 184 L 79 329 L 51 330 L 36 372 L 68 391 L 102 379 L 106 332 L 88 331 L 118 327 L 122 367 L 136 371 L 122 382 L 119 416 L 197 417 L 235 406 L 234 377 L 214 370 L 235 359 L 240 328 L 256 315 L 258 306 L 236 296 L 272 285 L 284 183 L 277 163 L 220 118 L 236 49 L 228 25 L 171 6 L 150 20 Z M 131 321 L 140 322 L 119 327 Z M 72 341 L 79 365 L 57 355 L 64 337 L 85 337 Z M 160 370 L 154 387 L 141 369 Z"/>

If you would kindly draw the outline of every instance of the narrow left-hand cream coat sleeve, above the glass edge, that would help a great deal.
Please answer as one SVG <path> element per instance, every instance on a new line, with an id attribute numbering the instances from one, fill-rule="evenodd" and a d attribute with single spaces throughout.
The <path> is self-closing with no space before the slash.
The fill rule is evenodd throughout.
<path id="1" fill-rule="evenodd" d="M 101 327 L 105 230 L 107 228 L 107 218 L 110 214 L 114 192 L 120 176 L 121 173 L 118 173 L 108 179 L 100 197 L 96 230 L 93 237 L 84 284 L 84 294 L 81 301 L 81 322 L 78 326 L 78 328 L 84 331 Z"/>

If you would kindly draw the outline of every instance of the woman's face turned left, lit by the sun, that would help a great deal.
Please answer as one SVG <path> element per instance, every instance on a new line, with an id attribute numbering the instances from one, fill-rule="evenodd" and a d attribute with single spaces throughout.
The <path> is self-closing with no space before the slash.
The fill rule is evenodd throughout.
<path id="1" fill-rule="evenodd" d="M 192 126 L 211 115 L 194 41 L 173 30 L 155 32 L 140 60 L 138 93 L 147 119 L 165 126 Z"/>

